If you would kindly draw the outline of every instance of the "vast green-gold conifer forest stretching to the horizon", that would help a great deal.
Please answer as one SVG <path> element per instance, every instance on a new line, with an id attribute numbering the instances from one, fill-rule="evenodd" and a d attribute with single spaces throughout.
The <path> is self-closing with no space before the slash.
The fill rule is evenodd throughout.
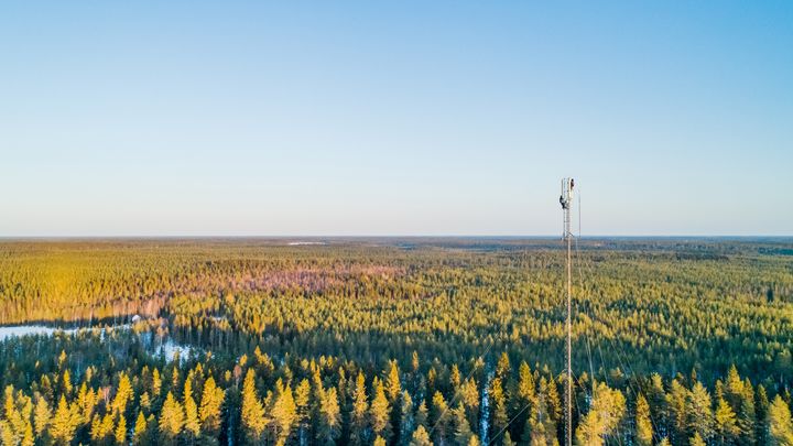
<path id="1" fill-rule="evenodd" d="M 564 262 L 550 238 L 0 241 L 0 443 L 564 444 Z M 793 445 L 793 240 L 582 239 L 573 274 L 575 444 Z"/>

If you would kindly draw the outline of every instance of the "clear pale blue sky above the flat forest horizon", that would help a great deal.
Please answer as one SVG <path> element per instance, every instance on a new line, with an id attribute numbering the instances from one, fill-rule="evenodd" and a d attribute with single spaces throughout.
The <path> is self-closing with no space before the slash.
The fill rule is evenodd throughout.
<path id="1" fill-rule="evenodd" d="M 793 235 L 793 2 L 0 4 L 0 237 L 552 236 L 564 176 Z"/>

